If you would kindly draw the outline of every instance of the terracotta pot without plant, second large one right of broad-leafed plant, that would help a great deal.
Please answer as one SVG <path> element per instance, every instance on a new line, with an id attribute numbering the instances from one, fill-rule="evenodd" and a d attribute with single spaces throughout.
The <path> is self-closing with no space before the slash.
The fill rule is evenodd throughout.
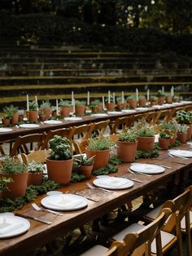
<path id="1" fill-rule="evenodd" d="M 116 142 L 117 157 L 119 157 L 123 162 L 130 163 L 135 161 L 135 156 L 137 152 L 137 142 Z"/>

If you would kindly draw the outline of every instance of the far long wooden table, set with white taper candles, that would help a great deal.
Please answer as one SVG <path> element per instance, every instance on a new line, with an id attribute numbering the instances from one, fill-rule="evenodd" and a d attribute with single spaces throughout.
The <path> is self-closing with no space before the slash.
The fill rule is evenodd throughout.
<path id="1" fill-rule="evenodd" d="M 70 127 L 70 126 L 81 126 L 83 124 L 87 124 L 90 122 L 97 122 L 97 121 L 103 121 L 103 120 L 107 120 L 109 119 L 110 121 L 115 121 L 117 117 L 125 117 L 125 116 L 133 116 L 133 115 L 137 115 L 138 113 L 147 113 L 147 112 L 151 112 L 151 111 L 159 111 L 159 110 L 163 110 L 163 109 L 173 109 L 173 108 L 177 108 L 177 107 L 187 107 L 192 105 L 192 102 L 183 102 L 179 105 L 177 104 L 164 104 L 162 106 L 156 107 L 156 108 L 146 108 L 146 109 L 142 109 L 142 110 L 137 110 L 133 113 L 116 113 L 116 114 L 108 114 L 105 117 L 94 117 L 92 115 L 87 115 L 87 116 L 81 116 L 81 120 L 78 121 L 64 121 L 64 120 L 59 120 L 62 121 L 61 124 L 58 125 L 46 125 L 44 123 L 39 123 L 37 128 L 30 128 L 30 129 L 26 129 L 26 128 L 20 128 L 19 126 L 13 126 L 11 127 L 12 131 L 11 132 L 6 132 L 6 133 L 0 133 L 0 141 L 7 141 L 7 140 L 11 140 L 11 139 L 16 139 L 17 136 L 21 135 L 28 135 L 28 134 L 34 134 L 34 133 L 41 133 L 43 131 L 48 131 L 48 130 L 56 130 L 59 128 L 64 128 L 64 127 Z"/>

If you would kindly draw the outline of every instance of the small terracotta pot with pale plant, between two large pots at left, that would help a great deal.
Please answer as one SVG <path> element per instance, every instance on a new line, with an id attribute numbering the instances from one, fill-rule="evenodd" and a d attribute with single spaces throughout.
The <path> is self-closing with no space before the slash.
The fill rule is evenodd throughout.
<path id="1" fill-rule="evenodd" d="M 39 186 L 42 183 L 43 171 L 46 170 L 46 166 L 43 163 L 32 161 L 28 163 L 28 186 Z"/>

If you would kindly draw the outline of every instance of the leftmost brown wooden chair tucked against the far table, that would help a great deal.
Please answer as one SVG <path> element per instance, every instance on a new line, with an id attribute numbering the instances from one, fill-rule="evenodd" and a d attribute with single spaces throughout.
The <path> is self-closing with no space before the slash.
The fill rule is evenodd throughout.
<path id="1" fill-rule="evenodd" d="M 11 149 L 10 156 L 17 156 L 20 152 L 28 154 L 32 150 L 40 150 L 42 144 L 44 143 L 45 137 L 45 132 L 41 134 L 18 136 L 15 139 L 15 143 Z M 36 143 L 35 146 L 33 146 L 34 143 Z"/>

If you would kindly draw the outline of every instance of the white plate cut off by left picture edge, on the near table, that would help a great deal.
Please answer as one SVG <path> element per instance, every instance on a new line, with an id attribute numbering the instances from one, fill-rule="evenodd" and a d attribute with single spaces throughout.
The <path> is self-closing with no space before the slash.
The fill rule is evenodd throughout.
<path id="1" fill-rule="evenodd" d="M 12 214 L 0 214 L 0 239 L 19 236 L 28 231 L 30 223 L 25 218 Z"/>

